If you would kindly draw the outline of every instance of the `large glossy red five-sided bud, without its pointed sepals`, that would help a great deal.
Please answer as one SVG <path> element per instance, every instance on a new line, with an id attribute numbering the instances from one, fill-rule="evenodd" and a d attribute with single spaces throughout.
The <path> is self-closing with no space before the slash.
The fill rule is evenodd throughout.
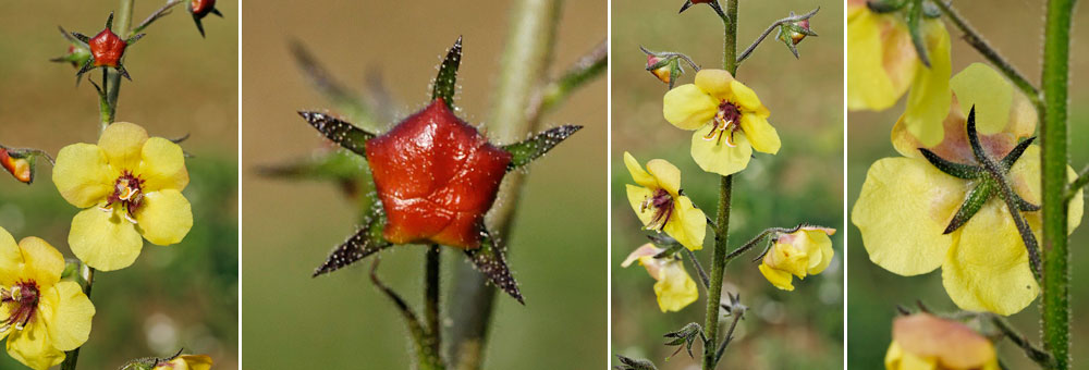
<path id="1" fill-rule="evenodd" d="M 367 141 L 367 162 L 386 209 L 387 240 L 475 249 L 511 153 L 440 98 Z"/>

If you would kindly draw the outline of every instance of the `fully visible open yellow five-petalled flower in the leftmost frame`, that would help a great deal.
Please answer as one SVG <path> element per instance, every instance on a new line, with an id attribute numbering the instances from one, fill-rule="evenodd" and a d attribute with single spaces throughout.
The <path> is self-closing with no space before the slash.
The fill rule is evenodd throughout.
<path id="1" fill-rule="evenodd" d="M 111 124 L 98 145 L 64 147 L 53 168 L 64 200 L 85 208 L 72 220 L 72 252 L 106 271 L 132 264 L 142 235 L 171 245 L 188 234 L 193 211 L 182 196 L 188 183 L 182 148 L 127 122 Z"/>

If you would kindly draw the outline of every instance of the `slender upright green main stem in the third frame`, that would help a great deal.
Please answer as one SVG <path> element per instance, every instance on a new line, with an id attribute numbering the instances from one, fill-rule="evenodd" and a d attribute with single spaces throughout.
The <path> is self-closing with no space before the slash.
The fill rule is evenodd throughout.
<path id="1" fill-rule="evenodd" d="M 726 0 L 726 15 L 722 18 L 722 67 L 737 74 L 737 0 Z M 719 212 L 715 217 L 714 249 L 711 251 L 711 281 L 707 288 L 707 310 L 703 331 L 703 370 L 712 370 L 718 365 L 717 343 L 719 340 L 719 300 L 722 298 L 722 275 L 726 269 L 725 256 L 730 252 L 726 244 L 730 234 L 730 203 L 733 197 L 734 177 L 719 180 Z"/>

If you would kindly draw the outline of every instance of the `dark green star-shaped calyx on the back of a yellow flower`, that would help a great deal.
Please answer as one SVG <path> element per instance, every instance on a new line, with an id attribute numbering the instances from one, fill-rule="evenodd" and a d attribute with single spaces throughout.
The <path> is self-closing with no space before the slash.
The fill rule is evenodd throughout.
<path id="1" fill-rule="evenodd" d="M 1032 144 L 1036 137 L 1029 137 L 1013 148 L 1001 161 L 993 161 L 988 157 L 989 155 L 983 150 L 983 146 L 979 141 L 979 134 L 976 132 L 976 107 L 972 106 L 971 110 L 968 112 L 968 123 L 966 126 L 968 133 L 968 143 L 971 145 L 971 151 L 975 155 L 979 163 L 982 164 L 968 164 L 968 163 L 956 163 L 941 157 L 938 157 L 933 151 L 926 148 L 919 148 L 922 152 L 922 157 L 933 164 L 938 170 L 950 174 L 957 178 L 976 181 L 977 185 L 970 192 L 968 196 L 965 197 L 964 203 L 960 205 L 960 209 L 957 210 L 956 214 L 953 215 L 953 220 L 950 221 L 949 226 L 945 227 L 944 234 L 952 233 L 971 219 L 983 207 L 991 197 L 1000 195 L 1001 188 L 999 182 L 1008 183 L 1005 175 L 1010 172 L 1010 169 L 1017 162 L 1017 159 L 1025 153 L 1025 149 Z M 987 163 L 994 163 L 998 165 L 996 171 L 989 171 L 986 165 Z M 1018 210 L 1024 212 L 1038 211 L 1040 206 L 1032 205 L 1025 199 L 1021 199 L 1017 193 L 1012 194 L 1014 202 L 1017 205 Z"/>

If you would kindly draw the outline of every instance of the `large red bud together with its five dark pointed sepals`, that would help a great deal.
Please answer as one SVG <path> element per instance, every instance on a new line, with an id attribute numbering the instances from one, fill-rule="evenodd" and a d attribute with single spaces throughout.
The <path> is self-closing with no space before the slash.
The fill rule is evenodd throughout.
<path id="1" fill-rule="evenodd" d="M 462 39 L 446 52 L 431 102 L 382 135 L 317 112 L 299 114 L 330 140 L 367 158 L 375 178 L 372 206 L 355 235 L 315 271 L 321 275 L 404 244 L 462 249 L 489 280 L 523 301 L 505 251 L 485 226 L 504 175 L 548 152 L 582 126 L 565 125 L 506 146 L 488 141 L 454 114 Z"/>

